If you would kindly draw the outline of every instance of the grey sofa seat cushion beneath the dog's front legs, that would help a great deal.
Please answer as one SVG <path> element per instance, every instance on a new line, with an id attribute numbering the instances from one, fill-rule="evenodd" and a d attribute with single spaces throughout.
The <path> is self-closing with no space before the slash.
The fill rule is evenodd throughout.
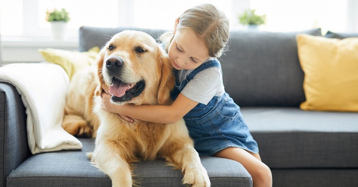
<path id="1" fill-rule="evenodd" d="M 7 186 L 112 186 L 110 178 L 86 157 L 92 152 L 93 139 L 79 138 L 82 150 L 38 153 L 30 156 L 7 178 Z M 224 158 L 201 157 L 207 169 L 212 186 L 252 186 L 252 178 L 238 162 Z M 151 162 L 134 164 L 134 178 L 140 186 L 168 187 L 182 185 L 182 172 L 166 166 L 165 161 L 157 159 Z"/>

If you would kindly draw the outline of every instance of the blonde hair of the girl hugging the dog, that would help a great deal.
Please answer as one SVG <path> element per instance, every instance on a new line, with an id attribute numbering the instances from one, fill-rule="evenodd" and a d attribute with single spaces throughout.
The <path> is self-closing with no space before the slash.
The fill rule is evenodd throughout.
<path id="1" fill-rule="evenodd" d="M 209 56 L 220 57 L 227 49 L 229 40 L 229 19 L 212 4 L 202 4 L 186 10 L 180 17 L 176 30 L 192 30 L 198 38 L 202 38 L 209 51 Z M 168 52 L 172 32 L 164 33 L 160 40 L 165 43 Z"/>

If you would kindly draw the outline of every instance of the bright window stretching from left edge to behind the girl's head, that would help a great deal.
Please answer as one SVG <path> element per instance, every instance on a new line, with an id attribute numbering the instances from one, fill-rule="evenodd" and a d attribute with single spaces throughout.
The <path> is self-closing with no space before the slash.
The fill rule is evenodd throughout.
<path id="1" fill-rule="evenodd" d="M 176 17 L 201 3 L 215 4 L 231 15 L 232 0 L 184 0 L 175 5 L 167 0 L 0 0 L 0 29 L 2 36 L 48 38 L 51 31 L 50 23 L 45 21 L 46 10 L 65 8 L 71 18 L 67 25 L 69 38 L 76 38 L 82 25 L 171 30 Z"/>

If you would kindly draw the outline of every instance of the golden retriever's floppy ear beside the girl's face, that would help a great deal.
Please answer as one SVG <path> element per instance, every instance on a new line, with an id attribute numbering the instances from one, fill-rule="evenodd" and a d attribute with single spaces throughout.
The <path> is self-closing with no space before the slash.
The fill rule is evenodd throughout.
<path id="1" fill-rule="evenodd" d="M 159 83 L 158 102 L 162 105 L 170 105 L 173 100 L 170 97 L 170 92 L 175 85 L 175 77 L 173 68 L 170 64 L 168 55 L 159 49 L 159 61 L 161 62 L 161 79 Z"/>

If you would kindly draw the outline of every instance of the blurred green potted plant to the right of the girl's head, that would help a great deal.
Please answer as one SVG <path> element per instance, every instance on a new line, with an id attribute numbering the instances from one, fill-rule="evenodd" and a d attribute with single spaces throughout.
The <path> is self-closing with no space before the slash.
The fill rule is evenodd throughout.
<path id="1" fill-rule="evenodd" d="M 249 29 L 257 29 L 259 25 L 265 24 L 266 15 L 257 15 L 256 10 L 246 10 L 243 14 L 239 15 L 238 18 L 242 25 L 248 25 Z"/>

